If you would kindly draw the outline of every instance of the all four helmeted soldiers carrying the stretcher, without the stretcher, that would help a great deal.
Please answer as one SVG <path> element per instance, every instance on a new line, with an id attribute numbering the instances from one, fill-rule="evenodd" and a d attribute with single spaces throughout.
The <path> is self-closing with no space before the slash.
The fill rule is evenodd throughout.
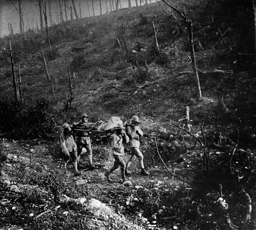
<path id="1" fill-rule="evenodd" d="M 87 131 L 84 131 L 84 127 L 88 124 L 87 114 L 82 114 L 79 122 L 75 122 L 72 125 L 64 123 L 63 132 L 60 135 L 61 150 L 64 153 L 64 167 L 66 169 L 67 162 L 71 158 L 73 162 L 73 167 L 75 170 L 75 176 L 80 176 L 81 173 L 78 170 L 78 163 L 81 156 L 82 149 L 85 148 L 88 153 L 89 170 L 93 170 L 95 166 L 93 165 L 93 151 L 91 147 L 90 137 Z M 110 174 L 120 167 L 122 181 L 128 181 L 126 176 L 130 175 L 131 172 L 128 171 L 131 162 L 136 159 L 139 160 L 141 174 L 148 176 L 149 173 L 145 170 L 143 164 L 143 154 L 140 151 L 140 138 L 143 136 L 143 131 L 139 127 L 140 119 L 138 116 L 134 115 L 131 121 L 123 126 L 122 123 L 118 123 L 113 129 L 114 133 L 111 136 L 111 148 L 114 158 L 113 166 L 104 173 L 105 177 L 109 182 L 111 182 Z M 76 128 L 75 139 L 73 137 L 73 128 Z M 81 131 L 79 129 L 81 129 Z M 129 144 L 131 150 L 131 156 L 125 162 L 123 156 L 124 145 L 123 143 Z"/>

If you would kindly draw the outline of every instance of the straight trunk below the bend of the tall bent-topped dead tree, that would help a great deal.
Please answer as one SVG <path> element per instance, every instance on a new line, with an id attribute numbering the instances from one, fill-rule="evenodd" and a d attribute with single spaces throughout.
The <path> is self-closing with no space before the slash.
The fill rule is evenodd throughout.
<path id="1" fill-rule="evenodd" d="M 198 77 L 198 69 L 196 66 L 196 61 L 195 61 L 195 50 L 194 50 L 194 40 L 193 40 L 193 23 L 191 20 L 188 21 L 188 28 L 189 28 L 189 46 L 190 46 L 190 54 L 191 54 L 191 64 L 192 64 L 192 69 L 195 74 L 195 80 L 197 83 L 198 87 L 198 99 L 202 99 L 202 93 L 201 93 L 201 87 L 200 87 L 200 81 Z"/>

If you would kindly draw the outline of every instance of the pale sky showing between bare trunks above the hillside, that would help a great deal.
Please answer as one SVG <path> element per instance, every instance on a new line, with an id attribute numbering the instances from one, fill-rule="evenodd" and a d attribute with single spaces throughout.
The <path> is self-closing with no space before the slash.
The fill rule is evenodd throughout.
<path id="1" fill-rule="evenodd" d="M 62 2 L 63 0 L 61 0 Z M 89 12 L 90 16 L 93 15 L 92 10 L 92 1 L 91 0 L 74 0 L 76 5 L 77 13 L 79 14 L 79 3 L 81 3 L 81 16 L 82 17 L 88 17 Z M 110 11 L 110 0 L 102 0 L 102 14 L 105 14 L 108 11 Z M 59 9 L 59 0 L 50 0 L 51 2 L 51 11 L 52 11 L 52 20 L 54 23 L 57 24 L 57 9 Z M 115 2 L 115 0 L 113 0 Z M 151 2 L 156 2 L 156 0 L 151 0 Z M 46 0 L 46 3 L 48 3 L 48 0 Z M 87 3 L 89 7 L 87 6 Z M 131 0 L 132 6 L 135 6 L 135 0 Z M 138 0 L 138 3 L 140 4 L 140 0 Z M 145 3 L 145 0 L 143 0 L 143 3 Z M 149 0 L 148 0 L 149 3 Z M 99 0 L 93 0 L 94 4 L 94 10 L 95 14 L 100 14 L 100 6 L 99 6 Z M 72 5 L 72 0 L 68 0 L 68 5 Z M 128 7 L 128 0 L 121 0 L 121 6 L 122 8 Z M 3 37 L 4 35 L 9 35 L 9 28 L 8 23 L 12 23 L 12 28 L 14 31 L 14 34 L 20 32 L 20 26 L 19 26 L 19 14 L 17 13 L 18 9 L 18 0 L 0 0 L 0 37 Z M 47 13 L 48 11 L 48 4 L 47 4 Z M 25 30 L 26 29 L 32 29 L 32 27 L 36 28 L 36 23 L 38 23 L 38 27 L 40 28 L 40 16 L 39 16 L 39 7 L 38 7 L 38 1 L 37 0 L 22 0 L 22 11 L 23 11 L 23 21 L 25 24 Z M 65 12 L 64 7 L 62 8 L 63 11 L 63 17 L 65 20 Z M 67 10 L 68 20 L 70 20 L 70 10 Z M 48 25 L 49 23 L 49 15 L 48 17 Z M 76 19 L 75 15 L 73 16 L 74 19 Z"/>

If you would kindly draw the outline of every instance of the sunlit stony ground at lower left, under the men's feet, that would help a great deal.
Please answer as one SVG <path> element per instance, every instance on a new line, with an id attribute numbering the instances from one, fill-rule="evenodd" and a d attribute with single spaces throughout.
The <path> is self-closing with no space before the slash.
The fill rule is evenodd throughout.
<path id="1" fill-rule="evenodd" d="M 44 229 L 161 229 L 154 217 L 148 220 L 140 212 L 125 215 L 125 206 L 138 201 L 125 195 L 148 184 L 156 190 L 170 185 L 179 187 L 164 169 L 150 169 L 150 176 L 141 176 L 136 164 L 129 177 L 131 186 L 122 184 L 119 170 L 113 173 L 113 182 L 107 182 L 103 174 L 113 163 L 108 147 L 103 148 L 107 157 L 96 162 L 92 171 L 86 169 L 84 153 L 80 167 L 83 174 L 75 177 L 71 164 L 64 172 L 61 159 L 50 152 L 47 142 L 2 139 L 0 146 L 0 230 L 42 225 Z M 120 197 L 113 195 L 118 193 Z M 51 224 L 46 228 L 48 222 Z"/>

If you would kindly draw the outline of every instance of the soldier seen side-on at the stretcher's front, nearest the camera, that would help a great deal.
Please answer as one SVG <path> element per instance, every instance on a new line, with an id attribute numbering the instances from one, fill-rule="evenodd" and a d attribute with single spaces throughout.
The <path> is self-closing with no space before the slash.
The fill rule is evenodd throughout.
<path id="1" fill-rule="evenodd" d="M 117 124 L 115 128 L 115 133 L 111 136 L 111 147 L 113 151 L 113 157 L 115 159 L 113 167 L 108 170 L 104 175 L 107 177 L 108 181 L 111 182 L 110 173 L 120 167 L 122 181 L 128 181 L 125 177 L 125 161 L 122 158 L 125 155 L 124 146 L 122 142 L 128 143 L 129 137 L 125 133 L 125 127 L 122 124 Z"/>

